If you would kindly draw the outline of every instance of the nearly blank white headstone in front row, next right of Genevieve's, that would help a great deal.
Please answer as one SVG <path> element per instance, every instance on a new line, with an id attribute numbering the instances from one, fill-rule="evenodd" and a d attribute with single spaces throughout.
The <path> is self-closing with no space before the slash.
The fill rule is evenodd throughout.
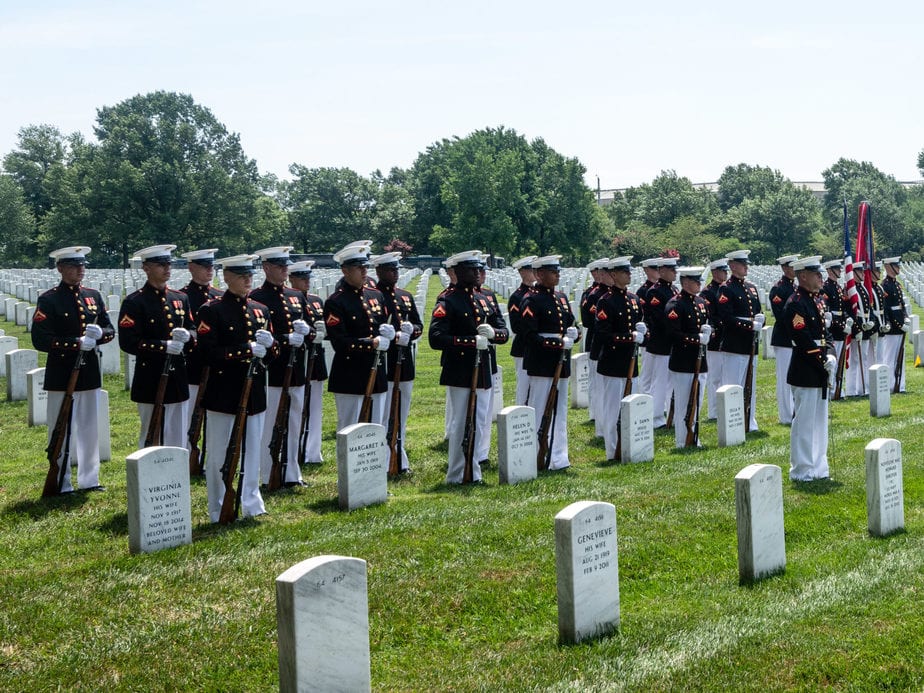
<path id="1" fill-rule="evenodd" d="M 735 476 L 738 580 L 741 584 L 786 568 L 783 472 L 773 464 L 751 464 Z"/>

